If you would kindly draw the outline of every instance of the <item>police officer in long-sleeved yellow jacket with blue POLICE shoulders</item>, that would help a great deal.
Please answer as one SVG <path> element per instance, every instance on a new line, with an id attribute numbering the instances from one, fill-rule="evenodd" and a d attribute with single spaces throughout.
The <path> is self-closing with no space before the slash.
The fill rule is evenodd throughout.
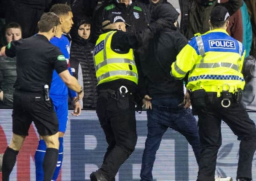
<path id="1" fill-rule="evenodd" d="M 256 128 L 240 103 L 244 78 L 241 73 L 244 47 L 226 31 L 229 14 L 216 6 L 210 14 L 211 31 L 191 39 L 172 64 L 171 74 L 184 78 L 191 90 L 193 108 L 198 109 L 201 142 L 198 181 L 214 181 L 216 159 L 221 146 L 221 120 L 241 140 L 237 170 L 238 181 L 252 179 L 251 168 L 256 149 Z"/>

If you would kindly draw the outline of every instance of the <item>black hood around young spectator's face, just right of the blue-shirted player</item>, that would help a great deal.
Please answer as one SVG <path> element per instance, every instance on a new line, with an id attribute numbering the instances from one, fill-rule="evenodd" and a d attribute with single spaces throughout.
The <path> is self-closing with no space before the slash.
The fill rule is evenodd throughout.
<path id="1" fill-rule="evenodd" d="M 81 36 L 78 35 L 78 28 L 80 25 L 83 24 L 90 24 L 91 25 L 91 33 L 88 39 L 83 39 Z M 86 45 L 89 42 L 89 39 L 92 35 L 92 23 L 88 17 L 76 17 L 74 18 L 74 25 L 71 28 L 70 36 L 73 42 L 76 42 L 80 45 Z"/>

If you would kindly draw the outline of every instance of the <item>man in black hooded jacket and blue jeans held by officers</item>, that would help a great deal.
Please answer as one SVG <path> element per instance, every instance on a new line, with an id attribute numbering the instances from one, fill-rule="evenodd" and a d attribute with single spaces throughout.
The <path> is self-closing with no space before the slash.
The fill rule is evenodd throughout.
<path id="1" fill-rule="evenodd" d="M 141 58 L 147 95 L 152 97 L 152 108 L 147 110 L 148 134 L 141 166 L 141 181 L 152 181 L 155 154 L 167 128 L 183 134 L 193 148 L 196 159 L 200 143 L 196 120 L 190 107 L 189 94 L 184 95 L 183 81 L 170 76 L 171 64 L 187 39 L 177 30 L 178 12 L 170 4 L 156 6 L 152 20 L 165 17 L 172 25 L 163 28 L 150 41 L 147 57 Z"/>

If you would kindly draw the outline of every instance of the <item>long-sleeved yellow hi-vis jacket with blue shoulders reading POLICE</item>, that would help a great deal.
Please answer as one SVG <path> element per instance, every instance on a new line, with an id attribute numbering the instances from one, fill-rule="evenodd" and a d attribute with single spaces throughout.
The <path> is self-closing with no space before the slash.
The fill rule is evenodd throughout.
<path id="1" fill-rule="evenodd" d="M 187 89 L 206 92 L 227 90 L 236 92 L 244 88 L 241 73 L 244 61 L 242 43 L 231 38 L 226 31 L 216 29 L 197 34 L 178 54 L 172 64 L 172 75 L 176 78 L 188 76 Z"/>

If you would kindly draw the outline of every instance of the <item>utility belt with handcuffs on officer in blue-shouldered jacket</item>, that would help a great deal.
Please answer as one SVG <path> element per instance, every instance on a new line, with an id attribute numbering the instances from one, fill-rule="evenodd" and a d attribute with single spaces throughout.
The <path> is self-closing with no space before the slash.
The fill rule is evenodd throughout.
<path id="1" fill-rule="evenodd" d="M 232 101 L 239 103 L 242 98 L 242 89 L 237 88 L 237 86 L 229 86 L 224 84 L 222 86 L 203 86 L 194 87 L 192 92 L 193 98 L 200 96 L 207 96 L 209 94 L 216 95 L 216 98 L 221 99 L 221 106 L 228 108 Z"/>

